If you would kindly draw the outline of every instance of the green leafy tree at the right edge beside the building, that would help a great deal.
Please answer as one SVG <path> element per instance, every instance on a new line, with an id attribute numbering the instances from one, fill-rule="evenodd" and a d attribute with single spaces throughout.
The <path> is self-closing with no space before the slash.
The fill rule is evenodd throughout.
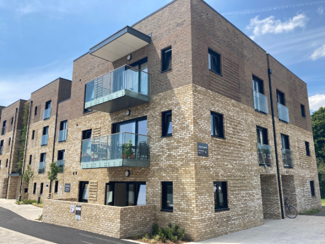
<path id="1" fill-rule="evenodd" d="M 311 115 L 321 198 L 325 198 L 325 108 Z"/>

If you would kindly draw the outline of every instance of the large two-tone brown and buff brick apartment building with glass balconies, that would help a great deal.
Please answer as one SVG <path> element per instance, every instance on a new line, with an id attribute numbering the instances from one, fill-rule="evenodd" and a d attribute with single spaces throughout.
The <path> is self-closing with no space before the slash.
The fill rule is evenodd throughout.
<path id="1" fill-rule="evenodd" d="M 285 197 L 321 205 L 306 83 L 205 2 L 124 27 L 72 77 L 30 98 L 25 188 L 44 222 L 117 238 L 178 223 L 198 241 L 284 218 Z"/>

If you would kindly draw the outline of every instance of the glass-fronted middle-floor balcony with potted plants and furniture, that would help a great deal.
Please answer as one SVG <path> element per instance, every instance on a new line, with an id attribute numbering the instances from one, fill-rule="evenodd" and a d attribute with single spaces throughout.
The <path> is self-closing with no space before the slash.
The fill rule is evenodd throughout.
<path id="1" fill-rule="evenodd" d="M 82 141 L 81 168 L 149 167 L 150 137 L 121 132 Z"/>

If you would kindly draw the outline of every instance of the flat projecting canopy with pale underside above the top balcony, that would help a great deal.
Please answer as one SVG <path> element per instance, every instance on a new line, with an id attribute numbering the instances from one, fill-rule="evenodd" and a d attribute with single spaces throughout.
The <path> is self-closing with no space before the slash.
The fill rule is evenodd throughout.
<path id="1" fill-rule="evenodd" d="M 150 44 L 151 37 L 136 29 L 126 26 L 89 49 L 89 53 L 96 57 L 114 62 L 138 49 Z"/>

